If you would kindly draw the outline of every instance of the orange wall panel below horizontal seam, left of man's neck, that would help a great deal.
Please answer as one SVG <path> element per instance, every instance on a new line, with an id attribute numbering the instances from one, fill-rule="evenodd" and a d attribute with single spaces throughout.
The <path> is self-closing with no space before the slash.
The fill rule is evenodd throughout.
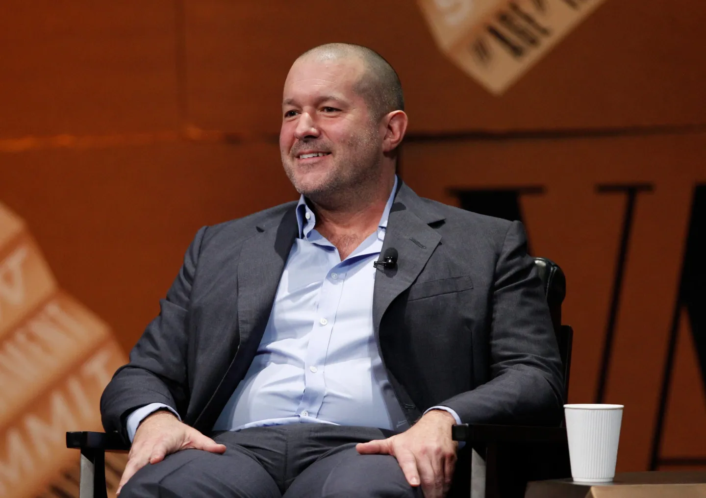
<path id="1" fill-rule="evenodd" d="M 177 142 L 6 154 L 0 200 L 64 289 L 125 350 L 159 311 L 196 231 L 297 198 L 275 145 Z"/>

